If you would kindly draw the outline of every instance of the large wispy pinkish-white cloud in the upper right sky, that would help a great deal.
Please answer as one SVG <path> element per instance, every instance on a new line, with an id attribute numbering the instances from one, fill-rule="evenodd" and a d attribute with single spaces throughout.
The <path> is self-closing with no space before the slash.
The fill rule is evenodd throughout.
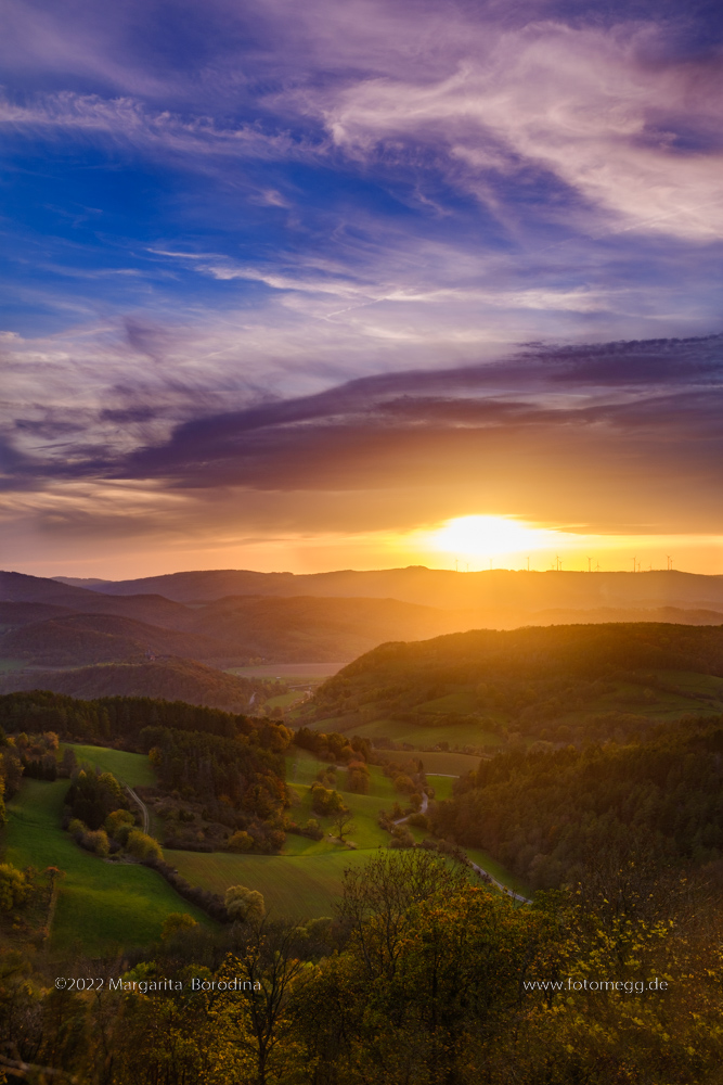
<path id="1" fill-rule="evenodd" d="M 443 74 L 421 79 L 415 64 L 402 64 L 401 74 L 305 90 L 299 104 L 360 157 L 434 149 L 439 168 L 492 209 L 498 184 L 532 169 L 577 192 L 588 216 L 602 212 L 593 230 L 617 221 L 642 233 L 721 237 L 723 77 L 714 58 L 661 62 L 670 31 L 654 22 L 468 29 L 464 48 L 449 36 Z M 551 196 L 554 217 L 559 195 Z M 585 208 L 578 214 L 582 225 Z"/>

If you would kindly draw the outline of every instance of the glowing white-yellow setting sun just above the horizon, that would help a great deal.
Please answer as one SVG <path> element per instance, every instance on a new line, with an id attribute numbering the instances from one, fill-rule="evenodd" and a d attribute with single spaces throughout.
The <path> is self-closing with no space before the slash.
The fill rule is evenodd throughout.
<path id="1" fill-rule="evenodd" d="M 428 536 L 434 550 L 466 558 L 493 558 L 555 546 L 557 532 L 507 516 L 457 516 Z"/>

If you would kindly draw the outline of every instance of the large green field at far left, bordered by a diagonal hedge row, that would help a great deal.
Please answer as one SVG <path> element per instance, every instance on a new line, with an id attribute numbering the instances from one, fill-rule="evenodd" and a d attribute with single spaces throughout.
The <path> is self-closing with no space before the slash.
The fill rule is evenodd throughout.
<path id="1" fill-rule="evenodd" d="M 95 956 L 145 945 L 160 934 L 171 911 L 204 924 L 203 912 L 183 901 L 160 875 L 137 864 L 112 863 L 83 852 L 61 829 L 67 780 L 24 780 L 8 803 L 4 856 L 15 866 L 65 870 L 55 909 L 51 952 Z"/>

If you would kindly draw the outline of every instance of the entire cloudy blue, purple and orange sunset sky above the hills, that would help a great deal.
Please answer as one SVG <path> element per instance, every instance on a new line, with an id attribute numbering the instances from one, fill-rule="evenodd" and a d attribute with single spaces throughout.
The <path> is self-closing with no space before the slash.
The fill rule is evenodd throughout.
<path id="1" fill-rule="evenodd" d="M 723 573 L 722 39 L 5 0 L 0 564 Z"/>

